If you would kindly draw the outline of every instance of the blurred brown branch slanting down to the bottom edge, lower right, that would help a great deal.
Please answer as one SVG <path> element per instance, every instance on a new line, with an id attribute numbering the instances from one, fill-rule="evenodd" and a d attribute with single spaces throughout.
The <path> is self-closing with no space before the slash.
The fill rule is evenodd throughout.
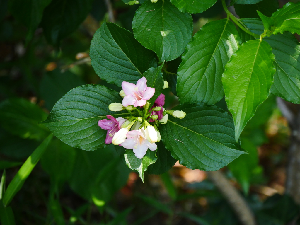
<path id="1" fill-rule="evenodd" d="M 243 225 L 256 225 L 253 213 L 247 205 L 247 202 L 238 190 L 229 183 L 223 173 L 217 170 L 207 172 L 207 174 L 223 196 L 227 199 L 241 223 Z"/>

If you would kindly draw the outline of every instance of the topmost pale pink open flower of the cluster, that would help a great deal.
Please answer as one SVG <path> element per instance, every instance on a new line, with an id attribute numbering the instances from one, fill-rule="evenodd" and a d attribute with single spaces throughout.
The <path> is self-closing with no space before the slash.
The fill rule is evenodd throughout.
<path id="1" fill-rule="evenodd" d="M 125 93 L 123 98 L 122 105 L 126 106 L 144 106 L 147 103 L 147 100 L 152 98 L 155 92 L 155 88 L 147 87 L 147 79 L 142 77 L 137 81 L 137 85 L 123 81 L 122 88 Z"/>

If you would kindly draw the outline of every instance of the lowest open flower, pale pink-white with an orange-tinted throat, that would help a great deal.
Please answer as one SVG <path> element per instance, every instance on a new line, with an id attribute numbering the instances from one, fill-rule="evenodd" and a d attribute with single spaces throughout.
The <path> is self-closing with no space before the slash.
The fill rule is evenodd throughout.
<path id="1" fill-rule="evenodd" d="M 146 155 L 147 149 L 155 151 L 157 145 L 155 143 L 150 143 L 146 139 L 146 132 L 142 128 L 137 131 L 129 131 L 126 134 L 127 139 L 121 144 L 125 149 L 132 149 L 134 155 L 141 159 Z"/>

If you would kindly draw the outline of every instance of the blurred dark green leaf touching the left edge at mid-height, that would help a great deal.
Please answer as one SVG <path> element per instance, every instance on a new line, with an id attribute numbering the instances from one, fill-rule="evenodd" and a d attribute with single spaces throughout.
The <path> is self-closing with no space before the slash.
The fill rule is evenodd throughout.
<path id="1" fill-rule="evenodd" d="M 47 114 L 37 105 L 23 98 L 7 99 L 0 104 L 0 124 L 13 135 L 42 140 L 49 132 L 38 122 Z"/>

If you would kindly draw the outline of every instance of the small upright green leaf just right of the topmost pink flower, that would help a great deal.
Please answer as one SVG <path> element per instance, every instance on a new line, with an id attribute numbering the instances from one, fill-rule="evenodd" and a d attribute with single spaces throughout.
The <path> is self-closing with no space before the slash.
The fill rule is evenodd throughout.
<path id="1" fill-rule="evenodd" d="M 147 86 L 155 88 L 155 93 L 153 97 L 149 100 L 150 107 L 154 104 L 155 100 L 161 94 L 164 88 L 163 73 L 161 72 L 161 68 L 163 66 L 164 63 L 158 66 L 157 68 L 151 67 L 145 73 L 143 73 L 143 76 L 145 76 L 147 79 Z"/>

